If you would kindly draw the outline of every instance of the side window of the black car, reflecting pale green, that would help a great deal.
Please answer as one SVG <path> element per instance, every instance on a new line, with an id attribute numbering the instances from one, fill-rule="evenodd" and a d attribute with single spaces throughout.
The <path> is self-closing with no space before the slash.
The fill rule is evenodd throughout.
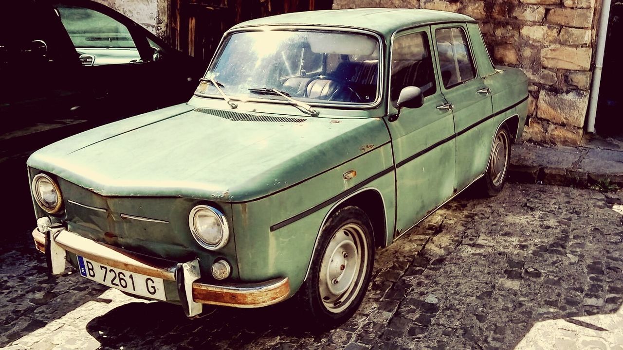
<path id="1" fill-rule="evenodd" d="M 56 8 L 83 65 L 128 64 L 141 59 L 128 27 L 117 20 L 85 7 Z"/>

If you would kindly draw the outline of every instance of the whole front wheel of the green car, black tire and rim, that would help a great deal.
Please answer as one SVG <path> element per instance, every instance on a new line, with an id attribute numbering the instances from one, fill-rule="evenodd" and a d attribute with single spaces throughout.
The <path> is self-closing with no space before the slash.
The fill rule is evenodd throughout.
<path id="1" fill-rule="evenodd" d="M 296 303 L 318 328 L 335 328 L 361 305 L 373 264 L 373 230 L 368 215 L 354 206 L 338 210 L 320 232 L 312 267 Z"/>

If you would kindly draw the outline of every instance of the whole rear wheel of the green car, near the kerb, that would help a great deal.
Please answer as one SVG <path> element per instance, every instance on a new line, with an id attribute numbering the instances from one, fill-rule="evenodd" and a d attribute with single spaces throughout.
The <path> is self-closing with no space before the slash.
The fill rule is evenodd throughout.
<path id="1" fill-rule="evenodd" d="M 493 138 L 491 157 L 485 176 L 480 179 L 480 194 L 485 197 L 493 197 L 502 191 L 508 177 L 508 165 L 510 164 L 511 139 L 508 127 L 502 125 Z"/>

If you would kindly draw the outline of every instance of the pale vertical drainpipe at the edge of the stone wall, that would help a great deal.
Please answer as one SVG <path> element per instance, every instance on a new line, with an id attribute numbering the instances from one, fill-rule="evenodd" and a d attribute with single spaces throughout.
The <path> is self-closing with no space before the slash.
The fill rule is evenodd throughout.
<path id="1" fill-rule="evenodd" d="M 588 109 L 588 124 L 586 131 L 595 132 L 595 115 L 597 113 L 597 99 L 599 98 L 599 85 L 601 85 L 601 70 L 604 67 L 604 51 L 606 49 L 606 36 L 608 33 L 608 22 L 610 20 L 610 2 L 604 0 L 601 5 L 601 15 L 599 17 L 599 32 L 597 32 L 597 56 L 595 58 L 595 70 L 592 73 L 591 101 Z"/>

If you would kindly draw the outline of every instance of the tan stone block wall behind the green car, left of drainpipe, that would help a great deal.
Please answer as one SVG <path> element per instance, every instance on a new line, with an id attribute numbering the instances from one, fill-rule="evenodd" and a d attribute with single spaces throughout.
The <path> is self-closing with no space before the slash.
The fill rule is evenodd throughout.
<path id="1" fill-rule="evenodd" d="M 460 12 L 480 28 L 493 62 L 530 77 L 523 138 L 579 144 L 584 128 L 599 0 L 335 0 L 334 9 L 408 7 Z"/>

